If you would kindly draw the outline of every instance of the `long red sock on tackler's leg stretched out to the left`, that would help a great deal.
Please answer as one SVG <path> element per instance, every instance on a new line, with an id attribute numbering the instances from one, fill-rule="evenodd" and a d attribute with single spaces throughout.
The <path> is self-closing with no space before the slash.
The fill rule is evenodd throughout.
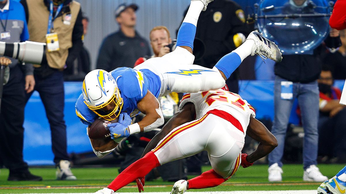
<path id="1" fill-rule="evenodd" d="M 122 171 L 107 187 L 117 191 L 136 180 L 136 178 L 144 177 L 157 166 L 160 166 L 160 162 L 158 162 L 154 152 L 149 152 Z"/>

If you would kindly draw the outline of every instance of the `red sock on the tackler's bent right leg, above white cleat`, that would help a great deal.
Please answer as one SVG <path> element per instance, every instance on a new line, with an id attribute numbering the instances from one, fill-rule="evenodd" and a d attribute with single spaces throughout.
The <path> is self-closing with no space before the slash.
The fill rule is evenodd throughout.
<path id="1" fill-rule="evenodd" d="M 210 169 L 209 171 L 206 171 L 202 173 L 201 175 L 188 180 L 188 182 L 189 182 L 189 189 L 199 189 L 199 188 L 216 187 L 227 180 L 228 179 L 218 175 L 214 171 L 214 169 Z"/>

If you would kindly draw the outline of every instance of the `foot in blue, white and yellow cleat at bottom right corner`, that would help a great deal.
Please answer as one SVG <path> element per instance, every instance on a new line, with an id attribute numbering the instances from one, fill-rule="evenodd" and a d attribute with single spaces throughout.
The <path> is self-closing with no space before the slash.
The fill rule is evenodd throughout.
<path id="1" fill-rule="evenodd" d="M 318 188 L 318 194 L 342 194 L 346 191 L 346 166 L 333 178 L 323 182 Z"/>

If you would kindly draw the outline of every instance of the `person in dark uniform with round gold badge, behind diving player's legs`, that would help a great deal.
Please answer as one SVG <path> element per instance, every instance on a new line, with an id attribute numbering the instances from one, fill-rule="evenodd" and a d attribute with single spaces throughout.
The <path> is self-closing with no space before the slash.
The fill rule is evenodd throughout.
<path id="1" fill-rule="evenodd" d="M 196 29 L 196 38 L 204 42 L 205 51 L 194 64 L 212 68 L 221 57 L 239 47 L 250 32 L 245 22 L 244 11 L 236 2 L 217 0 L 209 3 L 208 9 L 201 12 Z M 237 71 L 232 73 L 226 84 L 230 91 L 238 93 Z"/>

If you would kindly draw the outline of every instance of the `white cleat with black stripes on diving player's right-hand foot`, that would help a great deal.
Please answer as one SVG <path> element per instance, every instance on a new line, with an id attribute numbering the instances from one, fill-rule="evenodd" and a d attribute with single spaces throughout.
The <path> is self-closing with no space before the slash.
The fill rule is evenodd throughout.
<path id="1" fill-rule="evenodd" d="M 268 58 L 275 62 L 280 62 L 282 60 L 279 47 L 277 47 L 274 42 L 264 38 L 257 30 L 252 31 L 246 40 L 255 41 L 255 47 L 252 49 L 251 56 L 256 54 L 262 59 Z"/>

